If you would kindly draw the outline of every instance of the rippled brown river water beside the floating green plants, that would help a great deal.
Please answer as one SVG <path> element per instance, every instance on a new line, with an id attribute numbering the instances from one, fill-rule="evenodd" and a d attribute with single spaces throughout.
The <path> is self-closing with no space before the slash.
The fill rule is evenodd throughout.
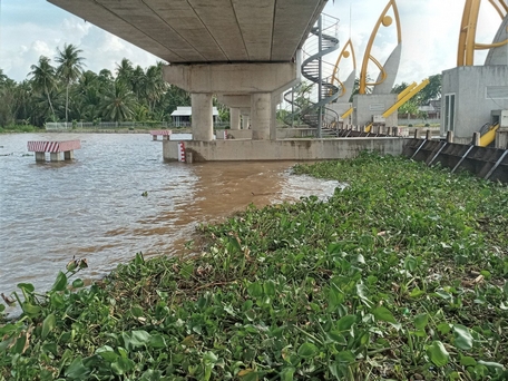
<path id="1" fill-rule="evenodd" d="M 72 162 L 36 164 L 27 150 L 66 139 L 81 140 Z M 88 260 L 81 279 L 99 279 L 137 252 L 182 253 L 197 224 L 251 203 L 333 194 L 336 182 L 291 175 L 294 164 L 165 163 L 148 134 L 0 135 L 0 292 L 47 290 L 74 256 Z"/>

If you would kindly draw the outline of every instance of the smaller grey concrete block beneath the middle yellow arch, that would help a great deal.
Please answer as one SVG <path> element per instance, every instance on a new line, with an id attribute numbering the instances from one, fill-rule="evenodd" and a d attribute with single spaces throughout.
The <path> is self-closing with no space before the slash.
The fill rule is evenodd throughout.
<path id="1" fill-rule="evenodd" d="M 372 123 L 374 115 L 383 114 L 397 102 L 397 94 L 355 95 L 353 96 L 353 125 L 365 126 Z M 397 111 L 385 119 L 388 127 L 398 126 Z"/>

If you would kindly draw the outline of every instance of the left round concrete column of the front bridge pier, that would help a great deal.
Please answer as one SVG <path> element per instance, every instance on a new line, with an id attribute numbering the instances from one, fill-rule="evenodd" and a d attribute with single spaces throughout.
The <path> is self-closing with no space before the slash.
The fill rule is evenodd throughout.
<path id="1" fill-rule="evenodd" d="M 190 102 L 193 107 L 193 140 L 213 140 L 214 118 L 212 94 L 192 94 Z"/>

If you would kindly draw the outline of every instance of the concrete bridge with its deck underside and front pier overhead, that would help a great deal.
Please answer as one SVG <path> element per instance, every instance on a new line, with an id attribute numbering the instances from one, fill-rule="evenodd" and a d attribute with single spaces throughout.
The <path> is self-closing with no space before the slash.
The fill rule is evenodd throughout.
<path id="1" fill-rule="evenodd" d="M 194 140 L 211 141 L 214 94 L 232 129 L 250 115 L 253 140 L 276 139 L 276 105 L 328 0 L 48 1 L 169 62 L 165 79 L 192 95 Z"/>

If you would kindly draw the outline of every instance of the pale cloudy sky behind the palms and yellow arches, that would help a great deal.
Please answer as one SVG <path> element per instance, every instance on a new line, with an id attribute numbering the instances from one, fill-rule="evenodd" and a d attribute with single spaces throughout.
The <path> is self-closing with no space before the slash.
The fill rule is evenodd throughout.
<path id="1" fill-rule="evenodd" d="M 465 1 L 397 0 L 402 29 L 402 57 L 395 84 L 421 81 L 456 66 Z M 340 19 L 338 37 L 342 45 L 352 38 L 358 70 L 372 29 L 387 3 L 388 0 L 329 0 L 323 11 Z M 490 43 L 500 21 L 494 7 L 483 0 L 477 41 Z M 52 59 L 57 48 L 61 49 L 63 43 L 78 46 L 86 58 L 86 69 L 95 72 L 104 68 L 115 72 L 123 58 L 143 68 L 158 60 L 46 0 L 0 0 L 0 68 L 3 74 L 21 81 L 28 77 L 30 66 L 37 63 L 41 55 Z M 381 27 L 374 41 L 373 56 L 383 63 L 394 47 L 394 28 Z M 482 65 L 485 57 L 486 52 L 477 52 L 475 63 Z M 331 55 L 328 59 L 334 63 L 336 58 Z M 346 65 L 342 70 L 345 74 L 351 71 Z M 377 74 L 372 77 L 377 77 Z"/>

